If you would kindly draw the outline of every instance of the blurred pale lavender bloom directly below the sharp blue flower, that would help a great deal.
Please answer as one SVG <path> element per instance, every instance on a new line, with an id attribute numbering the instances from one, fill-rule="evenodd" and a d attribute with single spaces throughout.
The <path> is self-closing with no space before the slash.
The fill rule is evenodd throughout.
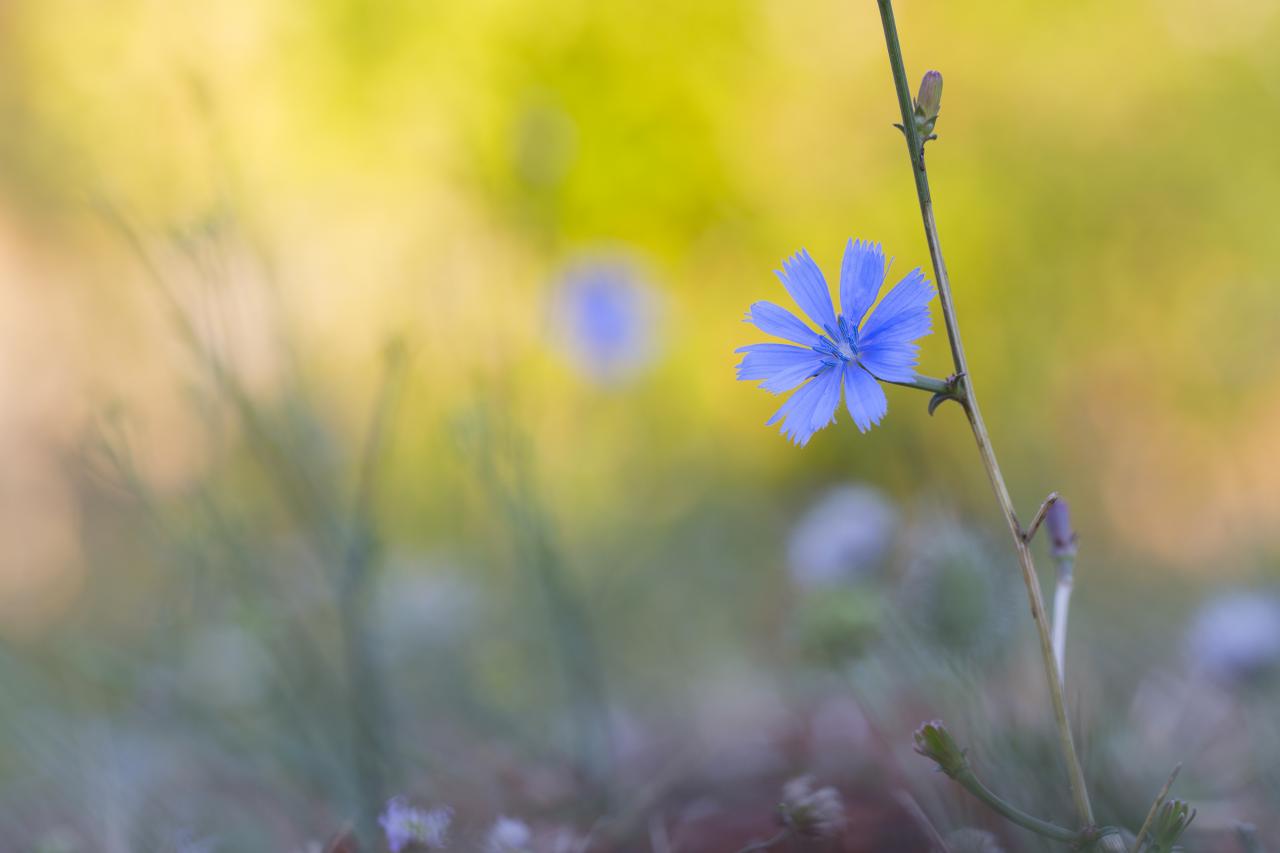
<path id="1" fill-rule="evenodd" d="M 791 576 L 809 590 L 867 578 L 888 552 L 896 530 L 897 510 L 878 489 L 837 485 L 791 529 Z"/>

